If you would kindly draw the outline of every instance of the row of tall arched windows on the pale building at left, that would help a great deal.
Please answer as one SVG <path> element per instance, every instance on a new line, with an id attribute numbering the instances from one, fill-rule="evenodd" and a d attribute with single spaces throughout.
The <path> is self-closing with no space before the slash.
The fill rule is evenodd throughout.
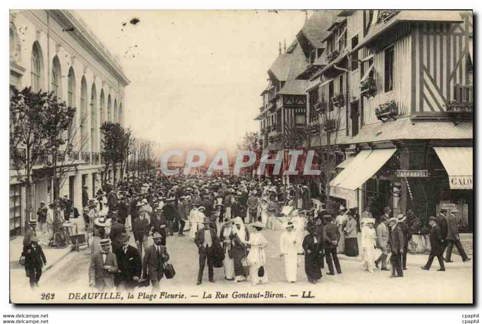
<path id="1" fill-rule="evenodd" d="M 10 42 L 11 42 L 11 50 L 12 44 L 14 43 L 14 33 L 11 30 L 10 33 Z M 42 64 L 42 50 L 40 48 L 40 43 L 35 41 L 32 46 L 32 55 L 31 55 L 31 84 L 33 91 L 39 91 L 42 88 L 42 78 L 43 78 L 43 64 Z M 51 91 L 62 100 L 62 70 L 59 58 L 55 55 L 54 59 L 52 60 L 52 70 L 51 73 Z M 70 67 L 67 74 L 67 105 L 71 107 L 76 106 L 76 78 L 74 68 Z M 90 133 L 90 148 L 94 152 L 99 151 L 98 143 L 99 143 L 99 127 L 104 121 L 114 121 L 123 124 L 123 108 L 122 103 L 119 105 L 117 99 L 114 99 L 114 104 L 112 107 L 112 99 L 110 94 L 107 95 L 107 119 L 106 119 L 106 98 L 104 94 L 104 89 L 100 91 L 100 100 L 97 102 L 97 89 L 95 87 L 95 83 L 92 84 L 91 88 L 91 98 L 90 101 L 88 100 L 88 92 L 87 92 L 87 81 L 85 76 L 82 76 L 80 82 L 80 107 L 78 107 L 78 114 L 77 120 L 80 122 L 80 138 L 85 138 L 89 136 Z M 99 107 L 97 107 L 97 103 Z M 91 106 L 90 112 L 90 132 L 85 125 L 88 124 L 88 116 L 86 114 L 89 112 L 88 105 Z M 97 123 L 97 108 L 99 108 L 100 113 L 100 124 Z M 113 111 L 112 111 L 113 109 Z M 88 150 L 88 145 L 84 145 L 86 147 L 84 150 Z"/>

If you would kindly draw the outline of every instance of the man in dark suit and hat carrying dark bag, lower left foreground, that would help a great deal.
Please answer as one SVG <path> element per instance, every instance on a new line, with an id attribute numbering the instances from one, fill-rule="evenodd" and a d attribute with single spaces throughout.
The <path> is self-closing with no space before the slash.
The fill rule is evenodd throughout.
<path id="1" fill-rule="evenodd" d="M 161 244 L 161 234 L 154 233 L 152 238 L 154 239 L 154 244 L 146 249 L 142 276 L 144 279 L 150 279 L 152 291 L 155 291 L 159 290 L 159 281 L 164 276 L 164 262 L 169 260 L 169 254 L 167 253 L 166 247 Z"/>

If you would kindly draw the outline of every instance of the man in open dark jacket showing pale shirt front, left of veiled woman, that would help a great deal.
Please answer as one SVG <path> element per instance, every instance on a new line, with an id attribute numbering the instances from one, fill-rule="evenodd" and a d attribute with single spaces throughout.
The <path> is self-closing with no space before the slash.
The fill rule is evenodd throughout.
<path id="1" fill-rule="evenodd" d="M 219 244 L 219 238 L 216 235 L 216 231 L 210 228 L 210 223 L 211 221 L 208 217 L 204 218 L 202 222 L 204 227 L 198 230 L 194 239 L 194 243 L 198 246 L 199 251 L 198 285 L 202 283 L 202 274 L 204 273 L 206 260 L 208 263 L 209 281 L 214 283 L 214 244 Z"/>

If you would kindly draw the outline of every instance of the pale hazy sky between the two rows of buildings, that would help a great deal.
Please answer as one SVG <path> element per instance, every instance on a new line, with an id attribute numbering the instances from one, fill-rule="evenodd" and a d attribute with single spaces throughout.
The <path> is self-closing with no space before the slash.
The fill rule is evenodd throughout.
<path id="1" fill-rule="evenodd" d="M 257 131 L 279 42 L 289 46 L 306 17 L 298 10 L 77 12 L 131 80 L 125 125 L 161 152 L 233 150 Z M 133 17 L 140 22 L 130 24 Z"/>

